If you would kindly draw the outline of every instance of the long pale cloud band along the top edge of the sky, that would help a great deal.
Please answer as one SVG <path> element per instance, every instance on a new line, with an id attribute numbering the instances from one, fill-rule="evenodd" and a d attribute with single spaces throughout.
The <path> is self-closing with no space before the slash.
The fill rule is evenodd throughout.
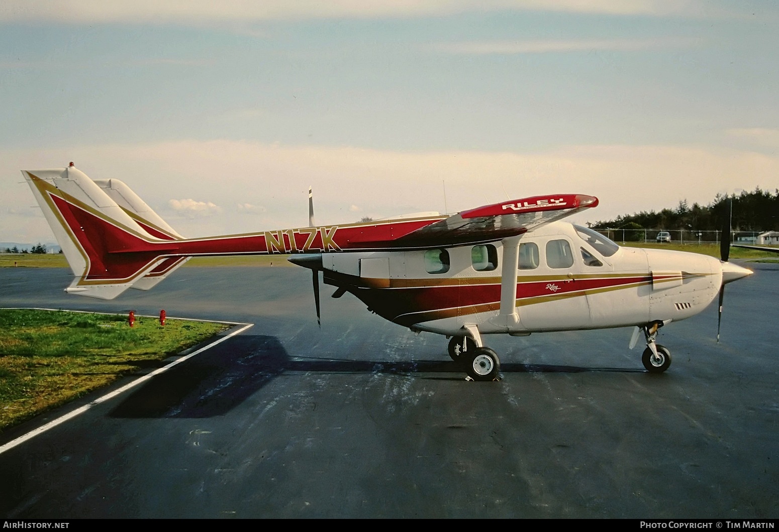
<path id="1" fill-rule="evenodd" d="M 0 20 L 59 23 L 178 23 L 245 25 L 273 19 L 375 19 L 449 16 L 465 12 L 552 11 L 611 15 L 700 16 L 711 10 L 700 0 L 4 0 Z"/>

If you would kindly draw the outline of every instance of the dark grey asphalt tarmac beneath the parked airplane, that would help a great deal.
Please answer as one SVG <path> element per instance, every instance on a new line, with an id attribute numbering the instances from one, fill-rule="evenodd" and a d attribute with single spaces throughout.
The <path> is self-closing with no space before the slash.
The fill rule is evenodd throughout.
<path id="1" fill-rule="evenodd" d="M 251 322 L 252 328 L 0 454 L 0 516 L 779 516 L 779 266 L 661 329 L 487 336 L 500 382 L 446 339 L 327 296 L 301 268 L 178 270 L 114 301 L 69 270 L 0 269 L 0 306 Z M 102 393 L 0 434 L 0 445 Z"/>

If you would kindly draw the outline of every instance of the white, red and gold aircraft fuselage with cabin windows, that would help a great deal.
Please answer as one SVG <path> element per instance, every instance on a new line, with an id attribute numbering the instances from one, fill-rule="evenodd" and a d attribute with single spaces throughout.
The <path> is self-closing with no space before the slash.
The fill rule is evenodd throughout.
<path id="1" fill-rule="evenodd" d="M 566 222 L 540 227 L 519 242 L 517 266 L 509 270 L 516 271 L 516 318 L 508 321 L 501 315 L 506 270 L 500 241 L 323 254 L 323 279 L 385 319 L 446 335 L 464 326 L 521 334 L 679 321 L 706 308 L 722 283 L 722 262 L 713 257 L 619 247 Z"/>

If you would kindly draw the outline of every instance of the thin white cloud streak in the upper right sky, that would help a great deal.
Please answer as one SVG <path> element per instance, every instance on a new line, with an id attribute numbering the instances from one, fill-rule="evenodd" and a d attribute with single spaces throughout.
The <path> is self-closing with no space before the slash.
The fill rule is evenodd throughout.
<path id="1" fill-rule="evenodd" d="M 689 48 L 700 39 L 665 37 L 662 39 L 606 39 L 584 41 L 469 41 L 432 44 L 434 51 L 458 55 L 516 55 L 566 53 L 576 51 L 642 51 L 664 48 Z"/>

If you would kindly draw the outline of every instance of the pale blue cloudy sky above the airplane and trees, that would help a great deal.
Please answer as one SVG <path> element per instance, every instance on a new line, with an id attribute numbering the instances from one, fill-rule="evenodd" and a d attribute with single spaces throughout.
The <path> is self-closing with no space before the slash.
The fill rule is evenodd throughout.
<path id="1" fill-rule="evenodd" d="M 304 226 L 309 185 L 320 224 L 774 191 L 777 28 L 768 0 L 3 0 L 0 241 L 54 241 L 19 170 L 71 160 L 186 236 Z"/>

